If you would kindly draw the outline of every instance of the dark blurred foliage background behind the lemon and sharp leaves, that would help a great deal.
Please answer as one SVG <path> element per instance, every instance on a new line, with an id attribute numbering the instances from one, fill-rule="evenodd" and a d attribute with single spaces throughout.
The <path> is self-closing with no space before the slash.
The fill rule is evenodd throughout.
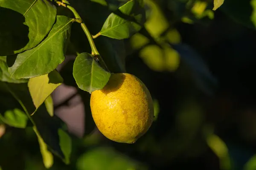
<path id="1" fill-rule="evenodd" d="M 104 3 L 107 2 L 107 3 Z M 127 0 L 70 0 L 92 34 Z M 135 144 L 106 139 L 90 113 L 90 94 L 72 76 L 74 51 L 90 52 L 73 24 L 64 78 L 52 97 L 72 136 L 69 165 L 51 170 L 256 170 L 256 1 L 144 0 L 145 23 L 126 40 L 95 39 L 112 72 L 140 78 L 155 119 Z M 106 5 L 107 4 L 107 5 Z M 70 16 L 65 8 L 58 14 Z M 32 127 L 0 125 L 0 169 L 45 170 Z"/>

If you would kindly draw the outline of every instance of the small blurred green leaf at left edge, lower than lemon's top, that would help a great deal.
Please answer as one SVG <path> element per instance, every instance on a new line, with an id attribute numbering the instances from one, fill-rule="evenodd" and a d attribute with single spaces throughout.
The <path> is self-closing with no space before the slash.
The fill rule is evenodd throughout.
<path id="1" fill-rule="evenodd" d="M 7 125 L 17 128 L 25 128 L 28 121 L 28 116 L 20 109 L 6 111 L 3 116 L 0 114 L 0 119 Z"/>

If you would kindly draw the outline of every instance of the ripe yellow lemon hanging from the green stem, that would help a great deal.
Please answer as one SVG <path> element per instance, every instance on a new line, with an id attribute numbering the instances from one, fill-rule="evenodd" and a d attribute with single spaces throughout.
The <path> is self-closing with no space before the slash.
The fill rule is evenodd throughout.
<path id="1" fill-rule="evenodd" d="M 111 74 L 90 98 L 93 120 L 99 131 L 115 142 L 134 143 L 154 119 L 151 95 L 140 79 L 127 73 Z"/>

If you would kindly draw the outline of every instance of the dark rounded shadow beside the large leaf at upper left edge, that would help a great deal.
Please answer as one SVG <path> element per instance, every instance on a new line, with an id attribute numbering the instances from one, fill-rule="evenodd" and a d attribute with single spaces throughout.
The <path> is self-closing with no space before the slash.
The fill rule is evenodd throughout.
<path id="1" fill-rule="evenodd" d="M 29 42 L 29 27 L 25 17 L 8 8 L 0 7 L 0 56 L 15 54 Z"/>

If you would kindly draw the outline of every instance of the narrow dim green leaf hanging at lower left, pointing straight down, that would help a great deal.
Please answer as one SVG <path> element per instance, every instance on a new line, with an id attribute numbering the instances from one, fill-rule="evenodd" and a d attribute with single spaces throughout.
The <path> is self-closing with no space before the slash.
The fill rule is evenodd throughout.
<path id="1" fill-rule="evenodd" d="M 71 148 L 72 148 L 72 141 L 70 139 L 70 136 L 62 129 L 58 129 L 58 136 L 60 138 L 60 146 L 61 150 L 63 151 L 63 154 L 65 156 L 65 163 L 70 163 L 70 154 L 71 154 Z"/>

